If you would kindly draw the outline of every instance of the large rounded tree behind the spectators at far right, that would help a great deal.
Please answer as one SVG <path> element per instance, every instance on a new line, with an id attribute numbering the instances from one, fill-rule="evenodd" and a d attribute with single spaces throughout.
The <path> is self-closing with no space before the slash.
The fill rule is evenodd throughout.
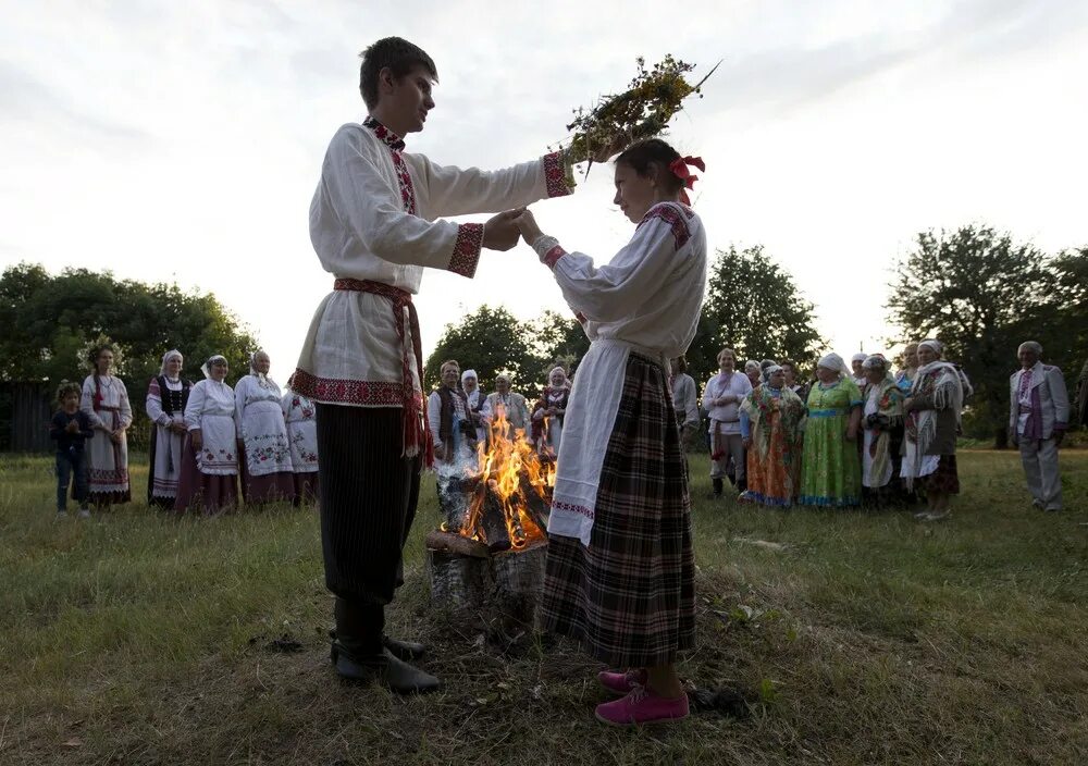
<path id="1" fill-rule="evenodd" d="M 903 337 L 936 337 L 945 357 L 970 376 L 968 432 L 990 434 L 1004 447 L 1016 347 L 1048 336 L 1053 306 L 1070 293 L 1058 271 L 1031 244 L 968 225 L 918 234 L 916 249 L 897 264 L 889 286 L 889 319 Z"/>

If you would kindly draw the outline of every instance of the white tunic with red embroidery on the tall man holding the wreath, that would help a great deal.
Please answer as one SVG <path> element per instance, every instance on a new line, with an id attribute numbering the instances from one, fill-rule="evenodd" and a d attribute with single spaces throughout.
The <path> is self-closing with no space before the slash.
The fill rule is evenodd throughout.
<path id="1" fill-rule="evenodd" d="M 338 280 L 416 294 L 424 267 L 471 277 L 480 258 L 482 223 L 436 219 L 568 194 L 558 153 L 493 172 L 442 166 L 404 151 L 396 134 L 368 118 L 341 127 L 329 145 L 310 205 L 310 239 Z M 290 386 L 313 401 L 354 407 L 404 407 L 415 398 L 422 421 L 412 332 L 407 306 L 334 289 L 313 316 Z"/>

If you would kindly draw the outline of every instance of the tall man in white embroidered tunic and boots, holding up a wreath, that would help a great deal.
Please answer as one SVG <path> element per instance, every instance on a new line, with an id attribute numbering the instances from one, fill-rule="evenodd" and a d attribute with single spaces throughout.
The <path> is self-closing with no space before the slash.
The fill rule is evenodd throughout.
<path id="1" fill-rule="evenodd" d="M 434 62 L 398 37 L 362 54 L 369 115 L 333 136 L 310 203 L 310 239 L 334 291 L 318 307 L 292 376 L 316 403 L 325 585 L 336 594 L 332 659 L 348 679 L 398 693 L 436 689 L 408 660 L 419 644 L 384 634 L 385 605 L 401 584 L 401 549 L 431 454 L 412 294 L 423 267 L 475 274 L 484 248 L 518 242 L 519 208 L 570 193 L 565 157 L 502 171 L 435 164 L 405 151 L 435 102 Z M 479 136 L 480 141 L 486 136 Z M 486 223 L 443 215 L 507 210 Z"/>

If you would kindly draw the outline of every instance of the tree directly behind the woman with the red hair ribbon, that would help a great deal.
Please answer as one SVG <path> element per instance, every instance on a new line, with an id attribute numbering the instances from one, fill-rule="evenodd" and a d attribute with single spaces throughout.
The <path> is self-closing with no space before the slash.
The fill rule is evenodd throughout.
<path id="1" fill-rule="evenodd" d="M 718 250 L 710 265 L 688 363 L 708 376 L 717 369 L 718 350 L 729 346 L 742 359 L 791 358 L 804 366 L 825 346 L 815 324 L 815 307 L 762 245 L 743 250 L 731 245 Z"/>

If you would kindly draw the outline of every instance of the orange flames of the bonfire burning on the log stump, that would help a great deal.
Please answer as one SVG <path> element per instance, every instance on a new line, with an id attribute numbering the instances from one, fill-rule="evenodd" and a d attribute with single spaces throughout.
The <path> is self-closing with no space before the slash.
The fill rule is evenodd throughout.
<path id="1" fill-rule="evenodd" d="M 502 506 L 511 547 L 520 551 L 545 540 L 544 530 L 529 514 L 522 475 L 545 506 L 551 505 L 555 462 L 541 460 L 532 443 L 526 438 L 524 431 L 510 427 L 502 406 L 489 425 L 489 435 L 491 446 L 477 445 L 477 465 L 467 471 L 469 475 L 477 477 L 480 484 L 472 493 L 460 534 L 473 540 L 483 536 L 484 504 L 490 493 Z"/>

